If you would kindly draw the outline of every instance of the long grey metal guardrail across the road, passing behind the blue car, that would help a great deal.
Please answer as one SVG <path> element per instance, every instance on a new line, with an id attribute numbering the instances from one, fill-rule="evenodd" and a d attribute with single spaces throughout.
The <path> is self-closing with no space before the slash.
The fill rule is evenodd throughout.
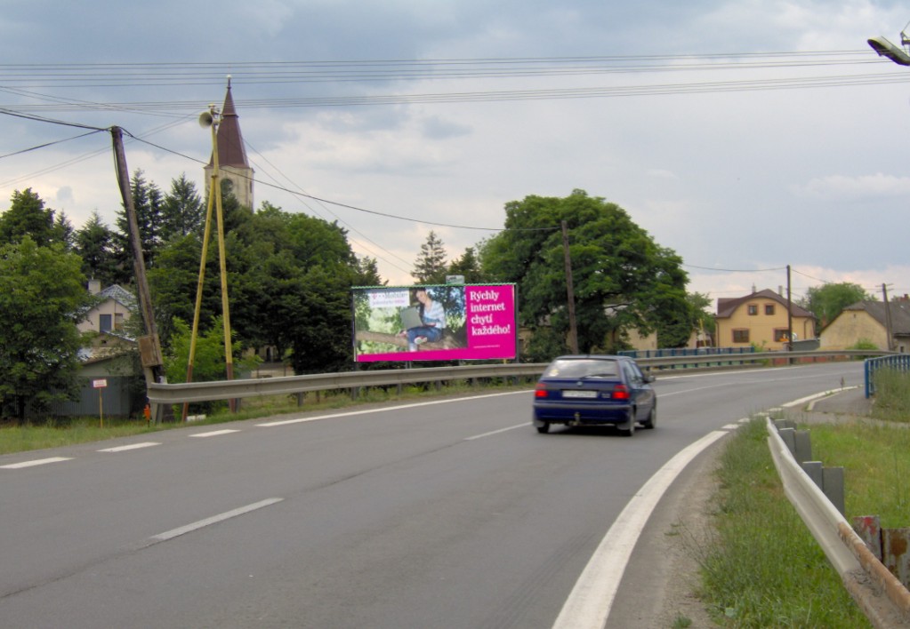
<path id="1" fill-rule="evenodd" d="M 698 367 L 762 364 L 768 361 L 806 361 L 815 359 L 854 358 L 890 354 L 841 350 L 836 352 L 757 352 L 753 354 L 711 354 L 642 358 L 637 363 L 646 369 L 691 369 Z M 330 391 L 370 386 L 389 386 L 470 380 L 473 378 L 508 378 L 537 376 L 546 363 L 471 364 L 457 367 L 421 367 L 417 369 L 385 369 L 353 371 L 335 374 L 289 375 L 277 378 L 250 378 L 217 382 L 186 384 L 149 384 L 148 401 L 152 404 L 183 404 L 230 400 L 262 395 L 301 394 L 310 391 Z"/>

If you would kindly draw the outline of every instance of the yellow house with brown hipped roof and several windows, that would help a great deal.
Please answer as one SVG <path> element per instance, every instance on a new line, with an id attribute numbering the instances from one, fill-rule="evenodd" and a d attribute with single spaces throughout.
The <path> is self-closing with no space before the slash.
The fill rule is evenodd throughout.
<path id="1" fill-rule="evenodd" d="M 815 338 L 815 317 L 798 305 L 791 304 L 794 341 Z M 789 331 L 787 300 L 772 290 L 753 292 L 744 297 L 717 300 L 716 342 L 718 347 L 786 348 Z"/>

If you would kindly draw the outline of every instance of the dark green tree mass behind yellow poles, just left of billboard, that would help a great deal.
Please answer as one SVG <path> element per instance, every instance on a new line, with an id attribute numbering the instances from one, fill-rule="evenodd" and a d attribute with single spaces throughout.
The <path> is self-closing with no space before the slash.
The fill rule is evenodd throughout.
<path id="1" fill-rule="evenodd" d="M 233 199 L 233 196 L 229 197 Z M 231 329 L 243 347 L 273 346 L 298 373 L 339 370 L 350 361 L 350 287 L 381 284 L 375 262 L 358 260 L 334 223 L 265 203 L 256 213 L 227 203 L 225 248 Z M 214 232 L 214 230 L 213 230 Z M 149 271 L 159 331 L 192 322 L 202 243 L 175 238 Z M 208 246 L 199 331 L 222 315 L 217 242 Z"/>

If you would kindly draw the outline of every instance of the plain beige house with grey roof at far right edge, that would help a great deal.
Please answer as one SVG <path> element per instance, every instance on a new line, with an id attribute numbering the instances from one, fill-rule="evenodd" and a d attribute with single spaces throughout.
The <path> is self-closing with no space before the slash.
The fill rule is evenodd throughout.
<path id="1" fill-rule="evenodd" d="M 871 341 L 879 349 L 906 353 L 910 348 L 910 301 L 897 299 L 888 306 L 885 309 L 885 302 L 874 301 L 848 305 L 822 330 L 821 349 L 847 349 L 858 341 Z"/>

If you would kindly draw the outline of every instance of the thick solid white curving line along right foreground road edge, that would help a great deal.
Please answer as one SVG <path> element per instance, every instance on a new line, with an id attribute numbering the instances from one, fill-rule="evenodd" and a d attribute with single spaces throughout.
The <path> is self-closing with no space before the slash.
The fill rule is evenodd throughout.
<path id="1" fill-rule="evenodd" d="M 642 486 L 638 494 L 632 496 L 591 555 L 569 598 L 562 605 L 553 629 L 593 629 L 606 624 L 632 549 L 661 496 L 696 455 L 725 434 L 723 431 L 705 434 L 670 459 Z"/>

